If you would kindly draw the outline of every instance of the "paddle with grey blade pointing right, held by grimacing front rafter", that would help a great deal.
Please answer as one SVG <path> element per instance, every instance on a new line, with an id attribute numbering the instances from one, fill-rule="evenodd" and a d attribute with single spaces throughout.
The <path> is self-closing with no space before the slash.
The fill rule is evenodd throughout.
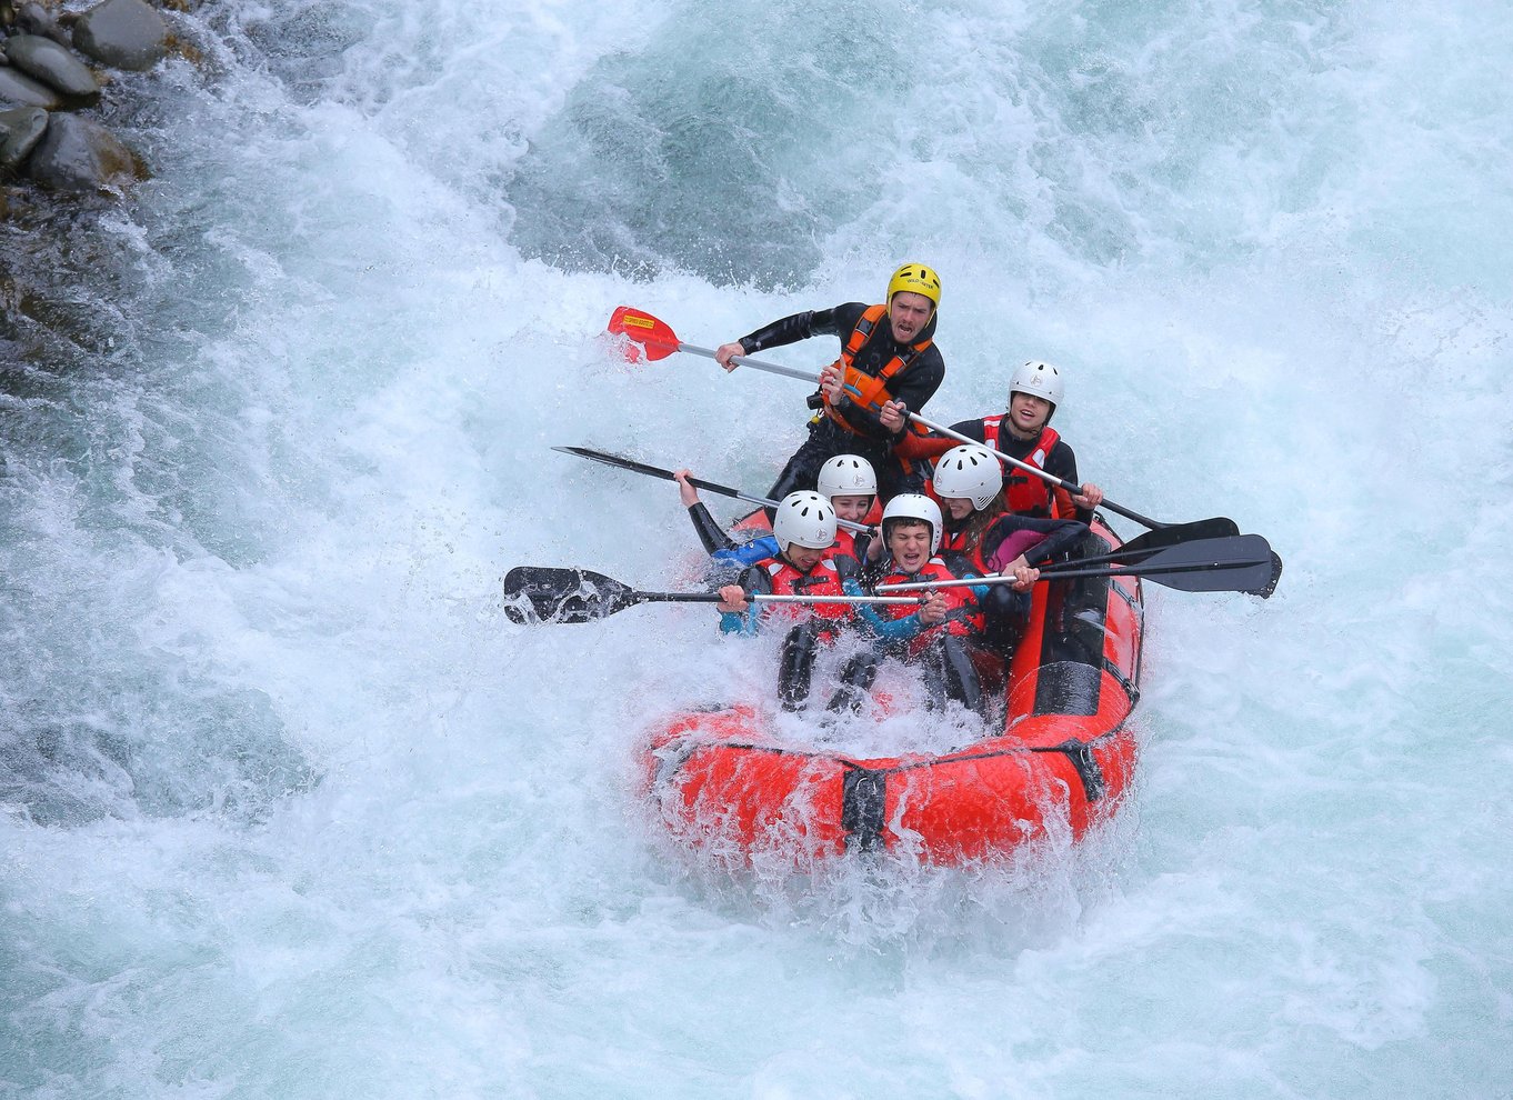
<path id="1" fill-rule="evenodd" d="M 1104 555 L 1098 561 L 1114 555 Z M 1092 561 L 1089 558 L 1089 561 Z M 1130 566 L 1092 566 L 1068 561 L 1065 566 L 1042 569 L 1041 581 L 1064 581 L 1080 576 L 1142 576 L 1179 592 L 1244 592 L 1265 599 L 1277 587 L 1282 558 L 1259 534 L 1224 539 L 1203 539 L 1160 549 L 1148 549 L 1144 560 Z M 1012 584 L 1012 576 L 964 576 L 953 581 L 912 581 L 879 584 L 878 592 L 927 592 L 932 589 L 962 589 L 979 584 Z"/>

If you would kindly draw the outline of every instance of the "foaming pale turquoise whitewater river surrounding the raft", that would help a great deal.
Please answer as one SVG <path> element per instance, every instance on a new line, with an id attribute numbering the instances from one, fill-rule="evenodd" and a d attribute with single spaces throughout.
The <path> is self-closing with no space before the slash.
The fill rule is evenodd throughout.
<path id="1" fill-rule="evenodd" d="M 0 1095 L 1513 1095 L 1505 6 L 179 26 L 201 64 L 115 95 L 154 179 L 95 327 L 3 398 Z M 669 484 L 552 445 L 763 490 L 802 436 L 803 384 L 629 366 L 614 306 L 713 346 L 903 260 L 929 413 L 1059 363 L 1085 477 L 1286 573 L 1147 589 L 1086 846 L 728 875 L 635 750 L 772 651 L 499 580 L 694 580 Z"/>

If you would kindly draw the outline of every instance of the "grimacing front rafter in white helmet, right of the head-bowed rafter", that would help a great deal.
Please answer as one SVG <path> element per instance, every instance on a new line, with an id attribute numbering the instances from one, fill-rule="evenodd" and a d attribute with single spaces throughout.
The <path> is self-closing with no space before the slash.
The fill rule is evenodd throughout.
<path id="1" fill-rule="evenodd" d="M 882 510 L 882 540 L 888 560 L 881 569 L 881 584 L 906 581 L 947 581 L 955 575 L 935 552 L 943 534 L 941 510 L 929 496 L 900 493 Z M 846 578 L 843 589 L 861 595 L 861 584 Z M 832 708 L 856 707 L 861 694 L 871 687 L 878 657 L 893 654 L 926 667 L 926 682 L 938 701 L 955 699 L 968 710 L 982 702 L 982 685 L 971 663 L 965 640 L 982 628 L 973 589 L 941 589 L 930 592 L 917 611 L 891 605 L 884 613 L 871 607 L 856 608 L 856 622 L 878 642 L 876 652 L 864 667 L 853 663 L 849 688 L 831 701 Z"/>

